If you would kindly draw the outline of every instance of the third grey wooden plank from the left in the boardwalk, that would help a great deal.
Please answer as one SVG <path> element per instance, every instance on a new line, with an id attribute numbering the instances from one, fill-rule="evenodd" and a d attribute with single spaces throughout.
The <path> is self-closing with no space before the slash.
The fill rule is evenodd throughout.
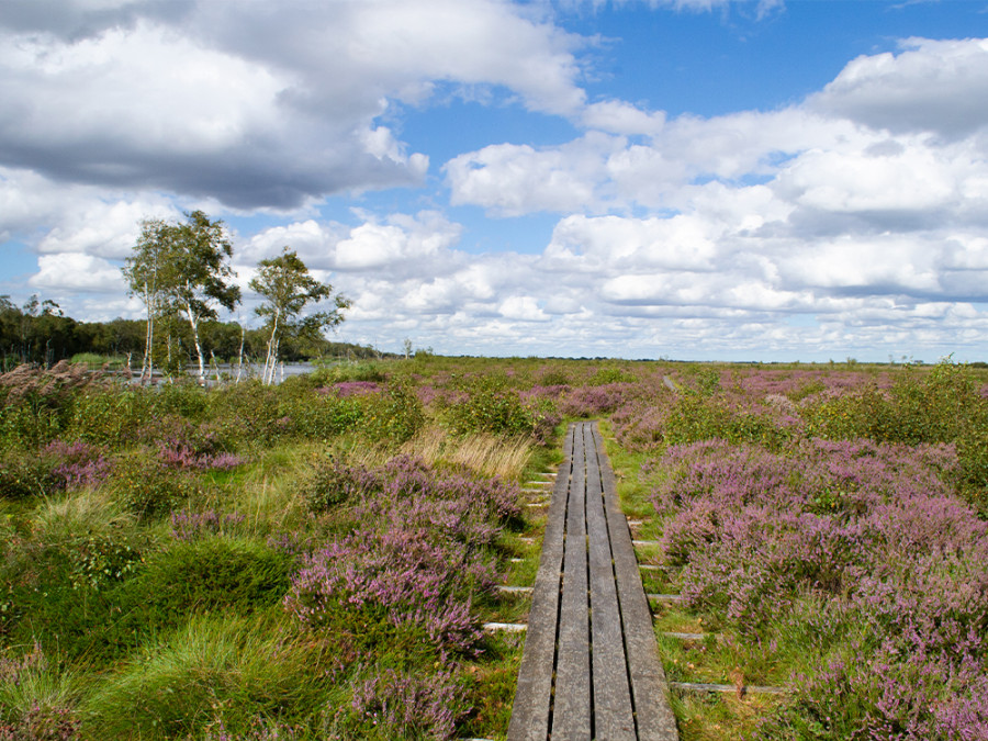
<path id="1" fill-rule="evenodd" d="M 635 741 L 635 716 L 610 538 L 604 514 L 604 490 L 592 428 L 586 433 L 586 528 L 590 543 L 591 632 L 593 640 L 594 738 Z"/>

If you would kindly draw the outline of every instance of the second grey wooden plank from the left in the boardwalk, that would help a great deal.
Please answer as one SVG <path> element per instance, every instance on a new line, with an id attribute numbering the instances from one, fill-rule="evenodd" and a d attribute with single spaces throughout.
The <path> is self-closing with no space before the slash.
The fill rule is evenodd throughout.
<path id="1" fill-rule="evenodd" d="M 590 606 L 586 582 L 586 463 L 583 435 L 573 438 L 573 469 L 566 505 L 566 542 L 559 614 L 552 738 L 591 739 Z"/>

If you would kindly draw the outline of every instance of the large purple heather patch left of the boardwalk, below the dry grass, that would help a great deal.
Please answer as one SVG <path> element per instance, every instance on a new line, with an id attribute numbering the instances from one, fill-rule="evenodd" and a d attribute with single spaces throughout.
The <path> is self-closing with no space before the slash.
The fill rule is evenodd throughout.
<path id="1" fill-rule="evenodd" d="M 497 580 L 489 547 L 501 521 L 517 517 L 517 489 L 497 480 L 437 475 L 396 458 L 367 470 L 328 461 L 317 508 L 347 502 L 358 523 L 375 523 L 306 555 L 285 608 L 311 626 L 335 626 L 340 609 L 369 610 L 425 631 L 444 658 L 471 654 L 481 637 L 470 608 Z M 349 618 L 343 618 L 345 622 Z"/>

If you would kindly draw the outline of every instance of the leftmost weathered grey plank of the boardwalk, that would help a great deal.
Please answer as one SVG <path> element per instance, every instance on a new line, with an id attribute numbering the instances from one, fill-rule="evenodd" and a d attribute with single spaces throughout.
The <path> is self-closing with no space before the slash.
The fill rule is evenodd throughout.
<path id="1" fill-rule="evenodd" d="M 563 448 L 564 460 L 559 467 L 546 534 L 542 538 L 542 554 L 536 574 L 528 615 L 528 633 L 518 669 L 518 685 L 512 720 L 508 725 L 508 741 L 546 741 L 549 736 L 550 709 L 552 707 L 552 673 L 555 669 L 555 628 L 559 619 L 560 572 L 563 558 L 563 535 L 565 528 L 566 497 L 573 463 L 573 438 L 571 429 Z"/>

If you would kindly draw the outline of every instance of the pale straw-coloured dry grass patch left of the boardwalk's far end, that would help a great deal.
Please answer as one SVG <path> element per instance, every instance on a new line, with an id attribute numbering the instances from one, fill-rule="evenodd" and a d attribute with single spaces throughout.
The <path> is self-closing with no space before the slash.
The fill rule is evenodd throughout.
<path id="1" fill-rule="evenodd" d="M 484 434 L 454 437 L 441 427 L 422 430 L 402 447 L 402 452 L 420 458 L 429 465 L 452 463 L 485 476 L 510 480 L 521 478 L 531 456 L 525 438 Z"/>

